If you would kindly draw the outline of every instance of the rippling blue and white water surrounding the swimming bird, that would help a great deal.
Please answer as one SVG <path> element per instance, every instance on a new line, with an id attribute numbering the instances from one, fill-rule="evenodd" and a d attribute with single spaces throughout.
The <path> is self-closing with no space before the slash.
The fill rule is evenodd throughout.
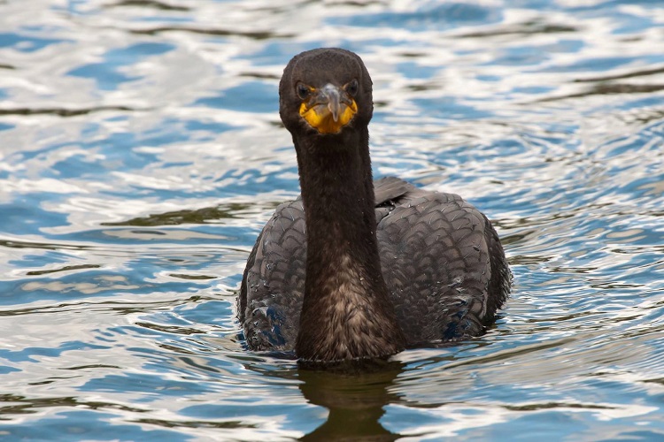
<path id="1" fill-rule="evenodd" d="M 373 75 L 374 175 L 498 226 L 485 336 L 351 377 L 243 348 L 318 46 Z M 662 48 L 645 0 L 0 2 L 0 436 L 664 438 Z"/>

